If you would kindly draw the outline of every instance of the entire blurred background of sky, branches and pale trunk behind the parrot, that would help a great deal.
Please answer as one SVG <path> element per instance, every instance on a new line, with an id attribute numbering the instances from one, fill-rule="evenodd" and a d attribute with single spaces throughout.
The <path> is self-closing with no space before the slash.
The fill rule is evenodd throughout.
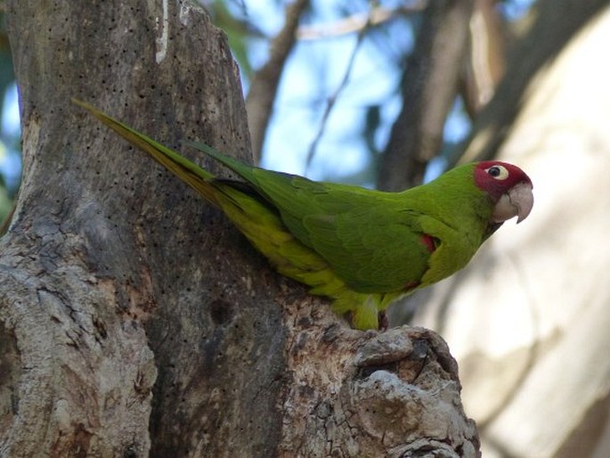
<path id="1" fill-rule="evenodd" d="M 440 332 L 486 457 L 610 456 L 610 2 L 202 1 L 239 62 L 254 159 L 402 190 L 499 158 L 535 205 L 393 308 Z M 0 3 L 0 220 L 20 176 Z"/>

